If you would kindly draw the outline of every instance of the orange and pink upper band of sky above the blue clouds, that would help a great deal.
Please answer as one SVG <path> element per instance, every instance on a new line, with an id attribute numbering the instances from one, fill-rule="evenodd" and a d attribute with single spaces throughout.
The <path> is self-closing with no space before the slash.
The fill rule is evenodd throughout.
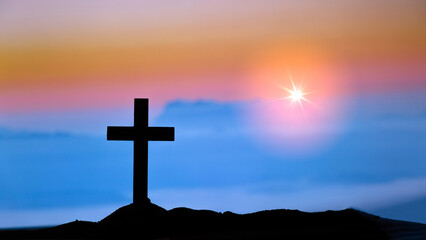
<path id="1" fill-rule="evenodd" d="M 244 89 L 269 56 L 352 94 L 426 87 L 424 1 L 34 2 L 0 9 L 3 112 L 265 97 Z"/>

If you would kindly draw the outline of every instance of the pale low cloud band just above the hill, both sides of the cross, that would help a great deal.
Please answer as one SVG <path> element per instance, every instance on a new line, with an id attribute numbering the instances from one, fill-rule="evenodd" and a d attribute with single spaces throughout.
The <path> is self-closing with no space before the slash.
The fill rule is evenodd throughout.
<path id="1" fill-rule="evenodd" d="M 267 185 L 267 184 L 266 184 Z M 302 211 L 339 210 L 354 207 L 373 211 L 426 196 L 426 178 L 401 179 L 386 183 L 313 186 L 294 183 L 290 192 L 265 193 L 253 186 L 216 189 L 157 189 L 150 191 L 151 201 L 166 209 L 189 207 L 219 212 L 248 213 L 267 209 Z M 267 188 L 266 186 L 264 186 Z M 261 186 L 256 186 L 256 189 Z M 99 205 L 51 209 L 1 210 L 0 228 L 49 226 L 76 219 L 99 221 L 120 205 Z"/>

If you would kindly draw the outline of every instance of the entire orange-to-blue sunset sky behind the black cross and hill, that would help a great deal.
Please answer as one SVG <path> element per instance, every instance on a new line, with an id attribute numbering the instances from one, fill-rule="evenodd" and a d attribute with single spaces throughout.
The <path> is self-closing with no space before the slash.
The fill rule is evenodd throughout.
<path id="1" fill-rule="evenodd" d="M 167 209 L 426 223 L 425 23 L 419 0 L 0 1 L 0 227 L 130 203 L 106 126 L 134 98 L 176 128 L 149 145 Z"/>

